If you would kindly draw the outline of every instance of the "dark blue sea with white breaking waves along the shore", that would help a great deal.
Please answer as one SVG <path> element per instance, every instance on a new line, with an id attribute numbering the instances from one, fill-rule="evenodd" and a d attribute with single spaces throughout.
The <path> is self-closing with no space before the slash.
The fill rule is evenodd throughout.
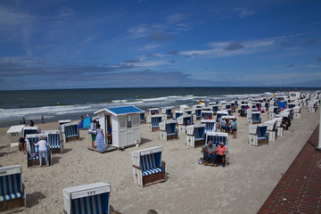
<path id="1" fill-rule="evenodd" d="M 0 127 L 19 125 L 22 117 L 27 124 L 94 117 L 95 111 L 135 105 L 146 111 L 152 107 L 193 106 L 221 100 L 242 100 L 251 97 L 288 95 L 289 91 L 315 92 L 319 87 L 141 87 L 90 88 L 0 91 Z"/>

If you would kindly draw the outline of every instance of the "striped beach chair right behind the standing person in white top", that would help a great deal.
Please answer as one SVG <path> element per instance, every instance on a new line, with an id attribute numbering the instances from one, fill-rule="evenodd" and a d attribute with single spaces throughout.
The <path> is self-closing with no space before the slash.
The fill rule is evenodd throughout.
<path id="1" fill-rule="evenodd" d="M 35 134 L 35 135 L 27 135 L 27 168 L 32 167 L 32 166 L 38 166 L 40 164 L 39 159 L 40 159 L 40 154 L 39 154 L 39 149 L 37 146 L 34 144 L 37 144 L 39 141 L 39 137 L 44 136 L 44 140 L 48 142 L 48 135 L 45 134 Z M 52 165 L 52 152 L 50 148 L 48 149 L 48 161 L 49 165 Z M 42 162 L 45 163 L 45 158 L 42 157 Z"/>

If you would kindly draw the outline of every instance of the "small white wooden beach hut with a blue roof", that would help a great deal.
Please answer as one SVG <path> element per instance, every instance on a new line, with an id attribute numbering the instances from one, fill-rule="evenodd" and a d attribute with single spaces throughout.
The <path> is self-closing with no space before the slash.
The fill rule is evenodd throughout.
<path id="1" fill-rule="evenodd" d="M 144 112 L 134 105 L 114 107 L 95 111 L 99 116 L 99 124 L 103 129 L 105 142 L 111 129 L 111 145 L 117 148 L 128 147 L 140 142 L 140 114 Z"/>

